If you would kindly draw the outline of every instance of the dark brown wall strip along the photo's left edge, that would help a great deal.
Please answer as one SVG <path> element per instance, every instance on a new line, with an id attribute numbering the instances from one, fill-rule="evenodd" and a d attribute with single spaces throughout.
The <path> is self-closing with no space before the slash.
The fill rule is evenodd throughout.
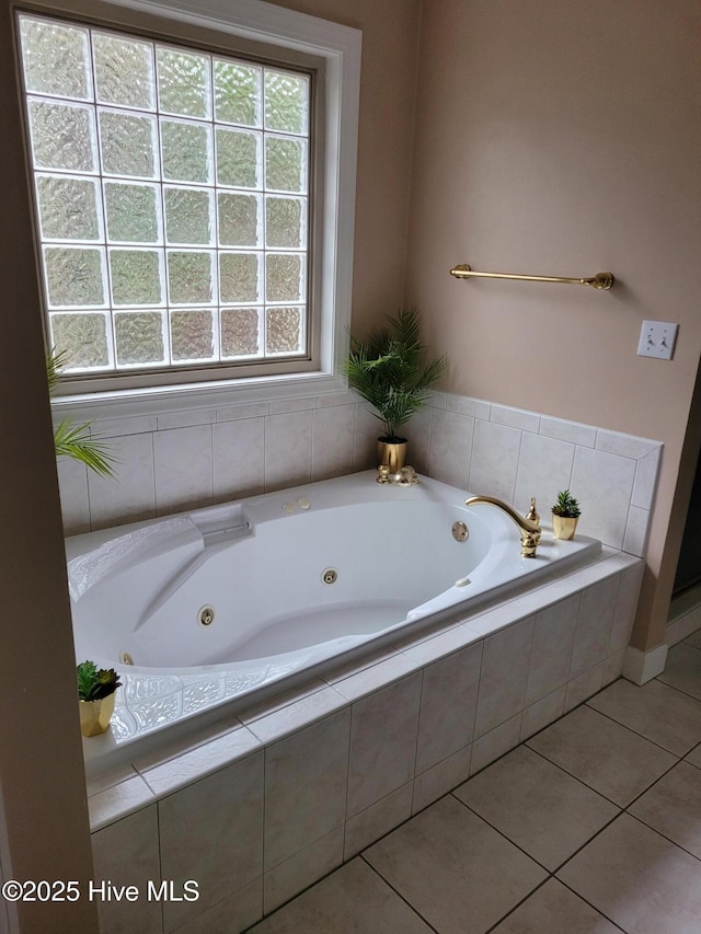
<path id="1" fill-rule="evenodd" d="M 5 878 L 92 875 L 56 462 L 12 71 L 0 25 L 0 786 Z M 60 806 L 57 806 L 60 803 Z M 4 847 L 3 847 L 4 849 Z M 96 930 L 95 906 L 16 904 L 23 934 Z"/>

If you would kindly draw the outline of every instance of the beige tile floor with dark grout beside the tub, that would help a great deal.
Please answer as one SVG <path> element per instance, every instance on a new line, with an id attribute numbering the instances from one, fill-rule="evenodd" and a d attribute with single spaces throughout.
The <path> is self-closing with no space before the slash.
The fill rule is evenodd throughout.
<path id="1" fill-rule="evenodd" d="M 251 929 L 701 934 L 701 636 L 619 680 Z"/>

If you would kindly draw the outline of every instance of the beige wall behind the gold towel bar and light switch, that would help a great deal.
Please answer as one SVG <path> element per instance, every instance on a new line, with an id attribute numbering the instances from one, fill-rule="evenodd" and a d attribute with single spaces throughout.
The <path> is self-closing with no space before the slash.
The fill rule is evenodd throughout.
<path id="1" fill-rule="evenodd" d="M 689 484 L 670 526 L 701 348 L 700 34 L 694 0 L 423 4 L 405 298 L 449 389 L 665 443 L 642 648 Z M 617 285 L 461 282 L 457 263 Z M 674 361 L 636 356 L 644 319 L 679 323 Z"/>

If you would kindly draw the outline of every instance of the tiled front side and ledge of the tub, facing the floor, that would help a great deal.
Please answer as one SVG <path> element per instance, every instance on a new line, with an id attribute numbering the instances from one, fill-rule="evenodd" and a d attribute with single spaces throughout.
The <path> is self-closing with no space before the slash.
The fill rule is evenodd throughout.
<path id="1" fill-rule="evenodd" d="M 243 931 L 591 696 L 620 674 L 642 566 L 605 549 L 90 781 L 96 877 L 199 890 L 103 902 L 103 932 Z"/>

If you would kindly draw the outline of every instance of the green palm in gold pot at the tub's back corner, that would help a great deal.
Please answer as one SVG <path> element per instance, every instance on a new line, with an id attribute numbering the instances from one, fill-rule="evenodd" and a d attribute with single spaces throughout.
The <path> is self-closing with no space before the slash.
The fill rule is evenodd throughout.
<path id="1" fill-rule="evenodd" d="M 350 338 L 343 371 L 348 384 L 375 408 L 382 425 L 379 463 L 395 473 L 406 457 L 406 438 L 400 429 L 426 404 L 428 390 L 443 376 L 448 361 L 445 356 L 426 361 L 416 309 L 402 309 L 395 318 L 388 315 L 387 321 L 388 326 L 376 331 L 365 343 Z"/>

